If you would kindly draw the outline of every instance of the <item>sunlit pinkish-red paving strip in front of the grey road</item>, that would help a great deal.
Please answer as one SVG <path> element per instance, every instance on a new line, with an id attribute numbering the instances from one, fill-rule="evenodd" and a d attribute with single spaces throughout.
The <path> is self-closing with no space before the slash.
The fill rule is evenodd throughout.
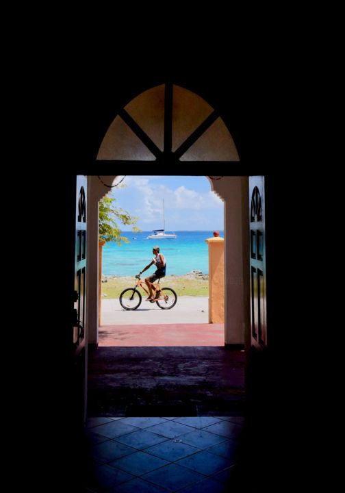
<path id="1" fill-rule="evenodd" d="M 99 346 L 224 346 L 224 324 L 102 325 Z"/>

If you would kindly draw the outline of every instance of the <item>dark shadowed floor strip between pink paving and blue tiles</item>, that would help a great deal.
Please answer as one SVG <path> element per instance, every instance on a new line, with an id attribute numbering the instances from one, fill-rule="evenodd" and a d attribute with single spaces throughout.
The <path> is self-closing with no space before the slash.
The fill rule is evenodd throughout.
<path id="1" fill-rule="evenodd" d="M 88 358 L 89 417 L 244 414 L 243 351 L 101 347 Z"/>

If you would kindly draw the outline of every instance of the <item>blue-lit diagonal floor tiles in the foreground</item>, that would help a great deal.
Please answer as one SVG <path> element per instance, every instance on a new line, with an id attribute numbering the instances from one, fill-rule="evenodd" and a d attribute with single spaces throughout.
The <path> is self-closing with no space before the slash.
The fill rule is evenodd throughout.
<path id="1" fill-rule="evenodd" d="M 85 492 L 228 492 L 243 425 L 242 416 L 89 418 Z"/>

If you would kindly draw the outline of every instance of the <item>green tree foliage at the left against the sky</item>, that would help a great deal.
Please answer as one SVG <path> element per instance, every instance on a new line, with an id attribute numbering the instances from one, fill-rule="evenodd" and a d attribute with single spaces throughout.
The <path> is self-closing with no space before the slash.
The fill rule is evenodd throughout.
<path id="1" fill-rule="evenodd" d="M 99 239 L 105 240 L 105 242 L 115 241 L 118 245 L 123 243 L 129 243 L 126 236 L 121 236 L 121 230 L 118 227 L 118 223 L 123 225 L 133 225 L 132 231 L 141 231 L 136 226 L 138 217 L 131 216 L 129 212 L 121 209 L 121 207 L 115 207 L 114 197 L 105 196 L 99 201 Z"/>

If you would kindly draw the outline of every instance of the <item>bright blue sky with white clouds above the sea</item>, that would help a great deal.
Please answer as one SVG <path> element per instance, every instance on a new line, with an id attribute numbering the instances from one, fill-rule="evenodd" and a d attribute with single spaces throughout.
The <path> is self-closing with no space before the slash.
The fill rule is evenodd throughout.
<path id="1" fill-rule="evenodd" d="M 112 189 L 115 205 L 138 216 L 142 231 L 163 228 L 163 199 L 166 231 L 224 229 L 222 200 L 204 176 L 126 176 L 122 183 Z"/>

